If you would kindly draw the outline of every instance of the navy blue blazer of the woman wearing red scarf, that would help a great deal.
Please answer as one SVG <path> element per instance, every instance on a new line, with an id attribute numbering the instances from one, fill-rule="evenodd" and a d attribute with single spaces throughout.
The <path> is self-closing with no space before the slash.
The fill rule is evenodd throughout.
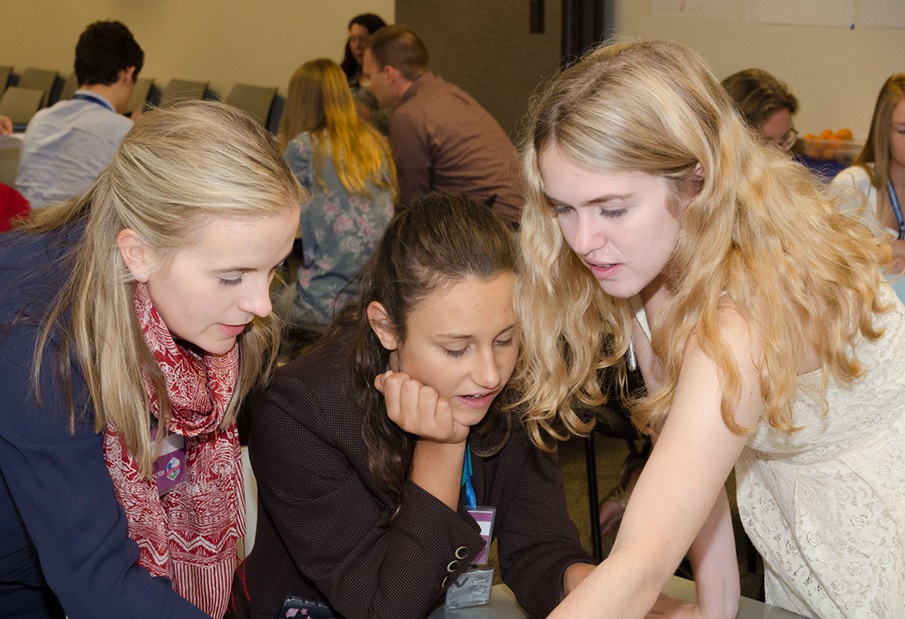
<path id="1" fill-rule="evenodd" d="M 74 434 L 52 346 L 44 351 L 41 403 L 31 388 L 41 318 L 80 238 L 80 227 L 0 234 L 0 618 L 204 619 L 168 579 L 135 564 L 138 546 L 78 367 L 72 393 L 84 414 Z"/>

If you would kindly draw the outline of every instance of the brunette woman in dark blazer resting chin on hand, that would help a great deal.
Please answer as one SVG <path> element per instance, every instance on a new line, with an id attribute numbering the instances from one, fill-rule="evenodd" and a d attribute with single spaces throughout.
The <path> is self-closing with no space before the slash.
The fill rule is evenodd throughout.
<path id="1" fill-rule="evenodd" d="M 590 572 L 555 452 L 505 406 L 515 271 L 483 203 L 432 194 L 394 217 L 357 300 L 252 402 L 261 509 L 236 616 L 272 619 L 294 595 L 424 617 L 485 546 L 469 503 L 496 509 L 503 581 L 532 615 Z"/>

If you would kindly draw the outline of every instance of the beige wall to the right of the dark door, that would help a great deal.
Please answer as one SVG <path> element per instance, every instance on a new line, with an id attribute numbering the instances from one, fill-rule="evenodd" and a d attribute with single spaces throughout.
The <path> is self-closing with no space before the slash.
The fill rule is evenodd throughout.
<path id="1" fill-rule="evenodd" d="M 616 29 L 636 37 L 669 38 L 701 53 L 717 78 L 759 67 L 785 81 L 798 97 L 800 133 L 849 127 L 864 139 L 877 93 L 905 71 L 905 30 L 753 24 L 655 17 L 649 0 L 616 0 Z"/>

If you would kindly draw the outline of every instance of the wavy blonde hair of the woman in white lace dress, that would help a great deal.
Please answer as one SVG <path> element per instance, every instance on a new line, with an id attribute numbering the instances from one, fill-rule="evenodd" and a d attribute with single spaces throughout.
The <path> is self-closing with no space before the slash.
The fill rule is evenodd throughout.
<path id="1" fill-rule="evenodd" d="M 598 48 L 552 80 L 528 126 L 516 388 L 536 443 L 544 433 L 590 430 L 582 409 L 604 402 L 605 368 L 616 368 L 624 384 L 631 337 L 626 301 L 601 289 L 564 242 L 545 199 L 538 156 L 553 144 L 584 168 L 659 176 L 671 189 L 681 233 L 664 275 L 674 297 L 652 338 L 665 381 L 634 402 L 640 428 L 649 431 L 668 412 L 694 333 L 718 367 L 727 426 L 745 431 L 733 418 L 740 383 L 720 333 L 723 293 L 762 346 L 757 365 L 770 425 L 795 429 L 790 401 L 806 351 L 816 353 L 825 380 L 861 374 L 853 345 L 859 336 L 881 335 L 873 316 L 886 309 L 877 294 L 888 246 L 837 213 L 803 167 L 753 139 L 695 52 L 667 42 Z"/>

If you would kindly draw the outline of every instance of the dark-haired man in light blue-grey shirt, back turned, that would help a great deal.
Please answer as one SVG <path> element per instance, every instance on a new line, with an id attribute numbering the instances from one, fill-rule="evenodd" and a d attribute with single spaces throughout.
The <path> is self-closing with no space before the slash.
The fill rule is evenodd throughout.
<path id="1" fill-rule="evenodd" d="M 96 22 L 82 33 L 75 48 L 79 89 L 35 114 L 25 130 L 16 189 L 32 208 L 82 193 L 109 165 L 132 128 L 122 113 L 143 62 L 120 22 Z"/>

